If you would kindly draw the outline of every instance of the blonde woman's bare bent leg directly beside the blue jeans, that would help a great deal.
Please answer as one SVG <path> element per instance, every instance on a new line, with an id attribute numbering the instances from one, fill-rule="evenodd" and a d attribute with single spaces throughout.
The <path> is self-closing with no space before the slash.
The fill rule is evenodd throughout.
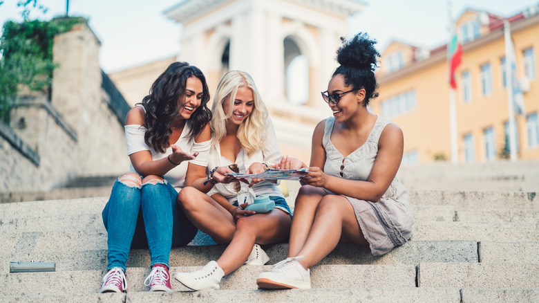
<path id="1" fill-rule="evenodd" d="M 236 224 L 232 215 L 207 194 L 185 187 L 178 194 L 178 204 L 194 226 L 219 244 L 231 241 Z"/>

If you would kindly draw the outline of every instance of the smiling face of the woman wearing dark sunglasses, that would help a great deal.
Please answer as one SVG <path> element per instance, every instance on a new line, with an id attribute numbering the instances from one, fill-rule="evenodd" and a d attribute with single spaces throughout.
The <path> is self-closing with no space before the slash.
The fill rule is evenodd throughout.
<path id="1" fill-rule="evenodd" d="M 328 84 L 329 95 L 344 93 L 350 91 L 351 89 L 352 86 L 344 85 L 344 76 L 341 74 L 334 75 Z M 364 99 L 365 89 L 359 89 L 357 91 L 350 91 L 349 93 L 341 95 L 338 104 L 329 102 L 328 105 L 333 111 L 335 121 L 343 122 L 348 120 L 348 118 L 351 116 L 354 116 L 358 110 L 361 110 L 361 108 L 365 109 L 362 102 Z"/>

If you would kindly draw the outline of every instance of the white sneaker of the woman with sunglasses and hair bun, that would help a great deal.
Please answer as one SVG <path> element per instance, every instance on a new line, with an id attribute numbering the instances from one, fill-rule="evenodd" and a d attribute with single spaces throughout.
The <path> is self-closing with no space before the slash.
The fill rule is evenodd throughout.
<path id="1" fill-rule="evenodd" d="M 299 264 L 301 258 L 303 256 L 287 258 L 275 264 L 271 271 L 258 275 L 258 288 L 311 288 L 310 270 Z"/>

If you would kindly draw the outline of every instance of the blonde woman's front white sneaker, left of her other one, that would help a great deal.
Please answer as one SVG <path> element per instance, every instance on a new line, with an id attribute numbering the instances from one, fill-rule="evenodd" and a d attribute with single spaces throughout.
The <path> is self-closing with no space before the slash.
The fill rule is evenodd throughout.
<path id="1" fill-rule="evenodd" d="M 209 261 L 206 266 L 192 273 L 177 273 L 174 279 L 181 284 L 193 289 L 193 291 L 203 291 L 207 289 L 219 289 L 219 283 L 225 276 L 223 269 L 216 261 Z"/>

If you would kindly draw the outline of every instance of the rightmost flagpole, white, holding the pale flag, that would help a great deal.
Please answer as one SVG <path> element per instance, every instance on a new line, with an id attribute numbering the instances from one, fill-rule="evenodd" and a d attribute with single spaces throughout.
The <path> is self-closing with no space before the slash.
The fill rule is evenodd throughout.
<path id="1" fill-rule="evenodd" d="M 507 89 L 507 104 L 509 108 L 509 149 L 511 162 L 516 161 L 516 138 L 515 138 L 515 111 L 513 100 L 513 84 L 511 73 L 511 62 L 513 58 L 509 58 L 511 54 L 511 29 L 509 28 L 509 21 L 504 21 L 504 42 L 505 42 L 505 87 Z M 515 58 L 516 59 L 516 58 Z"/>

